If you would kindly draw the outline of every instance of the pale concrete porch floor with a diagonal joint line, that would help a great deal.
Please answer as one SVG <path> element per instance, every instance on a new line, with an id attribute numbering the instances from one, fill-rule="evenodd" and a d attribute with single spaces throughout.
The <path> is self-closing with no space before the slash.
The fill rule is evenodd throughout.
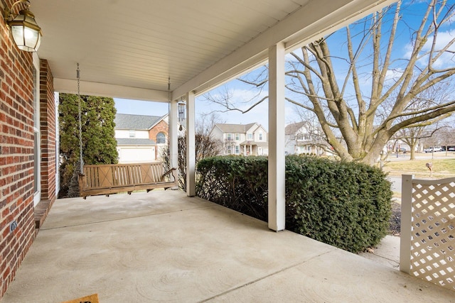
<path id="1" fill-rule="evenodd" d="M 455 302 L 455 292 L 180 191 L 59 199 L 1 302 Z"/>

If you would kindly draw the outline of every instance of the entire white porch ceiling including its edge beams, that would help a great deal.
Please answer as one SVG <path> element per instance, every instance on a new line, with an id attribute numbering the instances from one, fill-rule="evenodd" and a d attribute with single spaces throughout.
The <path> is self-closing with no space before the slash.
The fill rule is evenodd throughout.
<path id="1" fill-rule="evenodd" d="M 232 79 L 392 0 L 31 0 L 55 90 L 168 100 Z"/>

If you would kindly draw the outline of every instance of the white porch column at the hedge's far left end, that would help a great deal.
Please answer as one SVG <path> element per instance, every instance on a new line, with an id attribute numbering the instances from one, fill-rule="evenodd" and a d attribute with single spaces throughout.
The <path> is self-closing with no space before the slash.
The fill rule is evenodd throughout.
<path id="1" fill-rule="evenodd" d="M 196 196 L 196 131 L 194 92 L 186 94 L 186 195 Z"/>

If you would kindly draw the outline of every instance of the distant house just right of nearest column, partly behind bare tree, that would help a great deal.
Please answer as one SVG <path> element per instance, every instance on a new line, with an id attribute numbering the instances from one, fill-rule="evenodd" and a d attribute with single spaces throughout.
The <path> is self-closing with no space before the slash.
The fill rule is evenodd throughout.
<path id="1" fill-rule="evenodd" d="M 321 139 L 321 131 L 308 122 L 291 123 L 284 129 L 284 151 L 287 155 L 314 154 L 332 155 L 330 146 Z"/>

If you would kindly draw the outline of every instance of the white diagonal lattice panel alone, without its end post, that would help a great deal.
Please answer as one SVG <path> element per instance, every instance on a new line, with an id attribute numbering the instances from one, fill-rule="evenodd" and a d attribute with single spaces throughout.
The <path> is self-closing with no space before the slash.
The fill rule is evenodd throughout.
<path id="1" fill-rule="evenodd" d="M 447 181 L 412 184 L 410 273 L 455 290 L 455 181 Z"/>

